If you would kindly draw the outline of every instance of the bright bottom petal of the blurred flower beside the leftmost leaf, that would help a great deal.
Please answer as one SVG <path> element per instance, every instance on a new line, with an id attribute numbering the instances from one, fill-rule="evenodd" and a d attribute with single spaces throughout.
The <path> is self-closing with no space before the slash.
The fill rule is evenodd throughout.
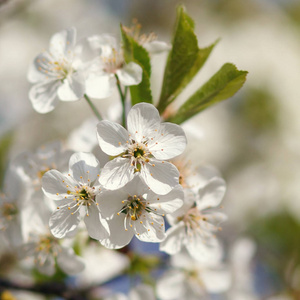
<path id="1" fill-rule="evenodd" d="M 109 74 L 97 74 L 91 72 L 86 79 L 86 94 L 96 99 L 104 99 L 111 96 L 116 80 Z"/>

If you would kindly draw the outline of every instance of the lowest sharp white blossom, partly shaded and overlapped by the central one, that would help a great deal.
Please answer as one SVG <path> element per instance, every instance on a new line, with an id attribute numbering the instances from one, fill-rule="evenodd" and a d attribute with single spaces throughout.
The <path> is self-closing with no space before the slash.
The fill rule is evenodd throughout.
<path id="1" fill-rule="evenodd" d="M 182 205 L 180 185 L 167 195 L 157 195 L 138 176 L 123 188 L 103 191 L 97 196 L 103 216 L 110 218 L 110 235 L 102 241 L 107 248 L 121 248 L 135 235 L 144 242 L 165 238 L 163 216 Z"/>

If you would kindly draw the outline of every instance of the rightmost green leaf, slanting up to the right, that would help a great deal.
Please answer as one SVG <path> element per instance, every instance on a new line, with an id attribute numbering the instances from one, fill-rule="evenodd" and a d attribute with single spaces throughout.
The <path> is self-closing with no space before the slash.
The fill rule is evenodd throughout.
<path id="1" fill-rule="evenodd" d="M 237 70 L 233 64 L 224 64 L 167 121 L 180 124 L 209 106 L 232 97 L 243 86 L 247 74 L 247 71 Z"/>

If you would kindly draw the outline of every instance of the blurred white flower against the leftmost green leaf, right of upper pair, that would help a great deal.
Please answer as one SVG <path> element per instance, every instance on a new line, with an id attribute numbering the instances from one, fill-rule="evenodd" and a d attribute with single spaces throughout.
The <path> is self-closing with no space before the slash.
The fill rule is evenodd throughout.
<path id="1" fill-rule="evenodd" d="M 123 52 L 113 36 L 91 36 L 82 43 L 86 61 L 86 93 L 92 98 L 107 98 L 116 86 L 116 77 L 124 86 L 142 81 L 143 69 L 136 63 L 125 63 Z"/>

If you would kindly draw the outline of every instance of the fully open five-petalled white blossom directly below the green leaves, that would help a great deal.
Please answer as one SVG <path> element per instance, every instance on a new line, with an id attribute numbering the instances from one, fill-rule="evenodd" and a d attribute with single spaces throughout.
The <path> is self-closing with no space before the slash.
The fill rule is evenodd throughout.
<path id="1" fill-rule="evenodd" d="M 148 103 L 132 107 L 127 127 L 128 131 L 107 120 L 97 126 L 102 151 L 116 156 L 102 169 L 100 183 L 115 190 L 138 173 L 155 193 L 169 193 L 179 182 L 179 172 L 165 160 L 184 151 L 186 137 L 182 128 L 172 123 L 161 123 L 157 109 Z"/>

